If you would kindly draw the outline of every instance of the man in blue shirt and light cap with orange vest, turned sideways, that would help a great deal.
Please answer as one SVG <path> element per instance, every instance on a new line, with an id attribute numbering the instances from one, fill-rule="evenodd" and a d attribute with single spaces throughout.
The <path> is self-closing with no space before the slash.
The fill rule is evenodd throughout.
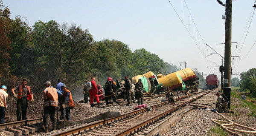
<path id="1" fill-rule="evenodd" d="M 61 120 L 60 122 L 64 122 L 66 120 L 71 120 L 70 109 L 75 107 L 71 92 L 67 90 L 67 85 L 61 85 L 63 90 L 63 96 L 61 101 Z"/>

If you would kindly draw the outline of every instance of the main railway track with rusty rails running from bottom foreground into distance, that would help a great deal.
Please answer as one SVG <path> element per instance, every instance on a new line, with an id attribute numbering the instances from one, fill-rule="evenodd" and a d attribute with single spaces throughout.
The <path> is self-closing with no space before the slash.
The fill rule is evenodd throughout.
<path id="1" fill-rule="evenodd" d="M 161 102 L 157 105 L 151 106 L 153 110 L 142 108 L 125 113 L 121 116 L 99 120 L 87 125 L 82 125 L 70 130 L 55 133 L 50 136 L 152 136 L 156 135 L 157 133 L 164 134 L 172 126 L 176 125 L 176 123 L 179 122 L 183 116 L 197 108 L 187 105 L 187 102 L 193 102 L 209 92 L 210 91 L 207 91 L 206 93 L 198 95 L 195 98 L 189 98 L 186 102 L 180 102 L 179 105 Z M 198 94 L 199 93 L 200 92 L 198 92 Z M 185 99 L 190 96 L 192 96 L 192 94 L 179 97 L 176 100 Z"/>

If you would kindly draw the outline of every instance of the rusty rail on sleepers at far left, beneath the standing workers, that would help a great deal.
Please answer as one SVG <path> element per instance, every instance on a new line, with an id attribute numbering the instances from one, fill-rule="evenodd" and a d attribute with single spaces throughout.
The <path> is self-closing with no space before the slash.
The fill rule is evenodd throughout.
<path id="1" fill-rule="evenodd" d="M 22 127 L 24 125 L 41 123 L 41 122 L 42 122 L 42 118 L 35 118 L 35 119 L 27 119 L 27 120 L 22 120 L 17 122 L 3 123 L 3 124 L 0 124 L 0 130 L 15 128 L 15 127 Z"/>

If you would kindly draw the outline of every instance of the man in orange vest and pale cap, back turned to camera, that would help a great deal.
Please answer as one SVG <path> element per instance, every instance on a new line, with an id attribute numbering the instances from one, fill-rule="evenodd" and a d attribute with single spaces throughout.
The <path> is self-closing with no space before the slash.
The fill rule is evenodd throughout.
<path id="1" fill-rule="evenodd" d="M 44 86 L 44 132 L 48 132 L 48 115 L 52 122 L 52 129 L 56 130 L 55 108 L 58 107 L 58 97 L 62 93 L 52 87 L 51 82 L 47 81 Z"/>

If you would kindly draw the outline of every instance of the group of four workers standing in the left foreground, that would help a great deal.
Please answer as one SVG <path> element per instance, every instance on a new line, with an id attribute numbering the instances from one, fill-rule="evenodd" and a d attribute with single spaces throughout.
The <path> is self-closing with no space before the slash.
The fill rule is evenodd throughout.
<path id="1" fill-rule="evenodd" d="M 28 79 L 22 79 L 22 85 L 17 85 L 12 88 L 13 97 L 17 100 L 17 121 L 26 120 L 28 100 L 34 103 L 33 91 L 30 86 L 27 85 Z M 71 120 L 70 109 L 74 108 L 72 95 L 69 90 L 67 90 L 67 85 L 58 79 L 58 85 L 56 88 L 52 87 L 51 82 L 47 81 L 45 84 L 44 94 L 44 132 L 48 132 L 48 116 L 51 119 L 53 130 L 56 130 L 56 120 L 55 120 L 55 108 L 58 107 L 58 103 L 61 105 L 61 117 L 60 121 Z M 16 94 L 17 92 L 17 94 Z M 3 85 L 0 89 L 0 123 L 5 122 L 5 111 L 7 108 L 7 87 Z"/>

